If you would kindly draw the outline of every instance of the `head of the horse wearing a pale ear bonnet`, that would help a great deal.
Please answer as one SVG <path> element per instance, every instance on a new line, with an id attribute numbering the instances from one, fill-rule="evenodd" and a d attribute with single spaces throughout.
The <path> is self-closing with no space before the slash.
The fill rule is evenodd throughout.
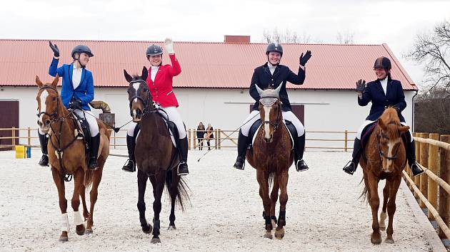
<path id="1" fill-rule="evenodd" d="M 266 90 L 261 90 L 258 85 L 255 86 L 260 96 L 259 115 L 263 124 L 261 129 L 264 135 L 264 141 L 270 143 L 274 140 L 274 132 L 283 120 L 281 115 L 281 102 L 279 100 L 281 84 L 276 89 Z"/>

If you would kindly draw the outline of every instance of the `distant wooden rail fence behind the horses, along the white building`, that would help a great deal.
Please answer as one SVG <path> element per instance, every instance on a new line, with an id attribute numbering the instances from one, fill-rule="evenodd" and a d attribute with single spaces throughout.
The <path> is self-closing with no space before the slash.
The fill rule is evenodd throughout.
<path id="1" fill-rule="evenodd" d="M 205 133 L 206 130 L 186 130 L 188 135 L 189 149 L 207 147 L 211 145 L 213 149 L 236 148 L 239 132 L 236 130 L 213 130 L 214 137 L 197 137 L 197 132 Z M 6 134 L 5 134 L 6 133 Z M 345 131 L 309 131 L 306 132 L 306 149 L 329 149 L 334 151 L 348 152 L 353 149 L 351 142 L 354 142 L 356 132 Z M 6 135 L 6 136 L 5 136 Z M 201 134 L 199 134 L 201 135 Z M 351 137 L 349 137 L 351 135 Z M 5 143 L 5 140 L 9 143 Z M 39 137 L 37 128 L 0 128 L 0 148 L 13 148 L 15 145 L 25 145 L 28 147 L 39 147 Z M 118 133 L 111 132 L 111 149 L 126 147 L 126 130 L 120 130 Z"/>

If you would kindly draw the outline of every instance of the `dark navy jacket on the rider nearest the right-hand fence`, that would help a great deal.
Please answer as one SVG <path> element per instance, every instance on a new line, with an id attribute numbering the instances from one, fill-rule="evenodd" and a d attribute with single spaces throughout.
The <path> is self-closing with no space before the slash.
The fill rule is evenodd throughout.
<path id="1" fill-rule="evenodd" d="M 394 106 L 399 111 L 400 122 L 405 122 L 405 118 L 401 115 L 401 111 L 406 107 L 405 94 L 399 80 L 392 80 L 388 77 L 386 95 L 379 80 L 367 83 L 362 98 L 360 99 L 358 96 L 358 104 L 365 106 L 369 102 L 372 102 L 372 106 L 366 120 L 375 121 L 383 114 L 386 107 Z"/>

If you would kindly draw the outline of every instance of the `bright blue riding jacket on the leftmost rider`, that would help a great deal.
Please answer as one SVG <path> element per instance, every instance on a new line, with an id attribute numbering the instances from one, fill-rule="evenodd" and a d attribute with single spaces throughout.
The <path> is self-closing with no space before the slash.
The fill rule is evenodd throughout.
<path id="1" fill-rule="evenodd" d="M 92 73 L 85 68 L 81 72 L 80 85 L 74 90 L 72 84 L 72 73 L 74 72 L 74 63 L 70 65 L 64 64 L 58 68 L 58 62 L 56 58 L 53 58 L 49 68 L 49 75 L 55 77 L 56 73 L 63 79 L 61 88 L 61 100 L 64 103 L 64 107 L 69 107 L 69 103 L 74 97 L 75 100 L 81 101 L 81 108 L 83 110 L 91 110 L 89 103 L 94 100 L 94 78 Z"/>

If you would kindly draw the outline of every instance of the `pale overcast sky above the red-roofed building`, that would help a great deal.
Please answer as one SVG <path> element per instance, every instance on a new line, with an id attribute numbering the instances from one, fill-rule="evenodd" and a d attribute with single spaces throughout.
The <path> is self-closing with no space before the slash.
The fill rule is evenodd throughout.
<path id="1" fill-rule="evenodd" d="M 420 85 L 421 67 L 402 55 L 417 33 L 445 19 L 449 0 L 4 0 L 0 38 L 221 42 L 249 35 L 261 43 L 264 30 L 277 28 L 336 43 L 338 33 L 352 33 L 354 43 L 387 43 Z"/>

